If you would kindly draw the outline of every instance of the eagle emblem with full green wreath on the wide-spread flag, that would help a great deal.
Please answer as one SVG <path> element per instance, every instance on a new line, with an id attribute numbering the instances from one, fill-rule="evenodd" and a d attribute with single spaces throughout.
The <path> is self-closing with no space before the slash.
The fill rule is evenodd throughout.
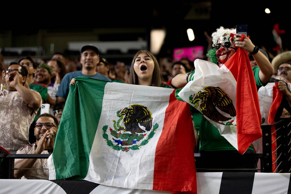
<path id="1" fill-rule="evenodd" d="M 140 104 L 132 104 L 129 108 L 120 109 L 116 115 L 120 119 L 117 122 L 112 121 L 113 129 L 109 128 L 112 137 L 110 139 L 108 137 L 108 125 L 103 126 L 102 133 L 107 145 L 116 150 L 123 150 L 123 152 L 128 152 L 129 149 L 136 150 L 147 144 L 159 127 L 157 123 L 152 125 L 152 113 L 147 107 Z M 122 120 L 124 127 L 120 126 Z M 145 136 L 147 137 L 145 138 Z"/>

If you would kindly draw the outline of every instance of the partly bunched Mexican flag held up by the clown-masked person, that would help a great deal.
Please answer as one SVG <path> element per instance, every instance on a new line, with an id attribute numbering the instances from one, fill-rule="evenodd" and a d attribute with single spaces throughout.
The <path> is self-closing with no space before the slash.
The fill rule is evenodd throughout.
<path id="1" fill-rule="evenodd" d="M 247 52 L 237 48 L 221 67 L 200 59 L 194 65 L 192 81 L 178 95 L 243 154 L 262 137 L 258 92 Z"/>

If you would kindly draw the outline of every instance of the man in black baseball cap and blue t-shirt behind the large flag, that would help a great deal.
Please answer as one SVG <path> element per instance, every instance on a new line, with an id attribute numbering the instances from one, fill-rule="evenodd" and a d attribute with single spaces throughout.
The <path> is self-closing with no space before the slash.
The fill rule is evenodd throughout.
<path id="1" fill-rule="evenodd" d="M 86 76 L 103 81 L 111 81 L 108 77 L 96 72 L 96 66 L 99 63 L 99 50 L 93 45 L 85 45 L 81 48 L 82 70 L 67 73 L 61 81 L 61 85 L 56 93 L 57 102 L 66 101 L 69 94 L 71 79 L 78 76 Z"/>

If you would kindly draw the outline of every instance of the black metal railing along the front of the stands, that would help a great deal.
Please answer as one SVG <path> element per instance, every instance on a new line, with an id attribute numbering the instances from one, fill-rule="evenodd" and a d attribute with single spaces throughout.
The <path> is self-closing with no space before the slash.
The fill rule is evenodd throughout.
<path id="1" fill-rule="evenodd" d="M 272 127 L 275 130 L 272 132 Z M 204 172 L 211 172 L 213 170 L 261 170 L 261 172 L 291 172 L 291 118 L 283 119 L 273 125 L 261 125 L 262 129 L 262 154 L 244 154 L 241 156 L 226 156 L 224 158 L 233 157 L 255 157 L 260 159 L 260 168 L 256 169 L 212 169 L 212 168 L 196 168 Z M 276 133 L 276 139 L 272 142 L 272 135 Z M 276 149 L 272 150 L 272 144 L 277 143 Z M 272 161 L 272 153 L 276 152 L 276 160 Z M 4 154 L 0 154 L 0 160 Z M 47 159 L 50 154 L 8 154 L 3 159 L 9 160 L 9 178 L 14 178 L 14 159 Z M 203 154 L 195 153 L 195 158 L 205 157 Z M 207 156 L 209 157 L 209 156 Z M 209 157 L 211 159 L 211 157 Z M 276 169 L 272 169 L 272 164 L 276 163 Z"/>

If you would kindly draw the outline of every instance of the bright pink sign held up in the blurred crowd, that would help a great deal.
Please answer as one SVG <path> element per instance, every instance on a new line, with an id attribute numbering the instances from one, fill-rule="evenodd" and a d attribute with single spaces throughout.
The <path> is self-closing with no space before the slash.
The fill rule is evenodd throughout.
<path id="1" fill-rule="evenodd" d="M 176 60 L 187 58 L 191 61 L 194 61 L 196 58 L 203 58 L 203 50 L 203 46 L 174 49 L 173 58 Z"/>

